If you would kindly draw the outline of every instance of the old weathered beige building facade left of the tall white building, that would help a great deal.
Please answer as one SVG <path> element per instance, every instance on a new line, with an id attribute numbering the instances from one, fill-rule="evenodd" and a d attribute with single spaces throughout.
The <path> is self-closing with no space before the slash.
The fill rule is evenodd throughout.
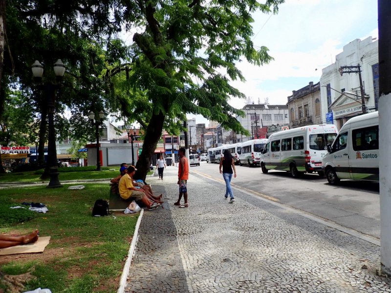
<path id="1" fill-rule="evenodd" d="M 289 127 L 322 124 L 320 83 L 310 82 L 288 97 Z"/>

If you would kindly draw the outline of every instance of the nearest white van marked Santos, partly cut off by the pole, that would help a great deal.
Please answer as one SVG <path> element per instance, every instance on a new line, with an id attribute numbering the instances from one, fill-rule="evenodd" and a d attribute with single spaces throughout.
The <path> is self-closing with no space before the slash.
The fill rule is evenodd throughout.
<path id="1" fill-rule="evenodd" d="M 340 179 L 379 181 L 379 114 L 351 118 L 342 126 L 322 160 L 327 181 Z"/>

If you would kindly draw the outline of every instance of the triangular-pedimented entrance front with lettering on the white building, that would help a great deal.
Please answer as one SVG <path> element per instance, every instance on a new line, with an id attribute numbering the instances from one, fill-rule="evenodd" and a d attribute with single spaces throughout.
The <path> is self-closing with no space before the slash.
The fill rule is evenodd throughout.
<path id="1" fill-rule="evenodd" d="M 366 104 L 369 97 L 365 97 Z M 337 126 L 338 130 L 352 117 L 361 115 L 363 113 L 361 105 L 361 97 L 356 93 L 344 92 L 330 105 L 332 110 L 333 124 Z"/>

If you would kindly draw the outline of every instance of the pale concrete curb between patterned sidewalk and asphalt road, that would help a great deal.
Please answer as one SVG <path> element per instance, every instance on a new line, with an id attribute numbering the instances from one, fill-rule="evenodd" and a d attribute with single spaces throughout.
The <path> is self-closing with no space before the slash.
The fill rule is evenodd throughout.
<path id="1" fill-rule="evenodd" d="M 213 179 L 213 178 L 211 178 L 211 177 L 208 177 L 208 176 L 204 176 L 204 175 L 202 175 L 202 174 L 200 174 L 200 173 L 198 173 L 198 172 L 190 171 L 190 173 L 197 174 L 197 175 L 199 175 L 199 176 L 205 177 L 205 178 L 207 178 L 207 179 L 210 179 L 210 180 L 216 181 L 216 182 L 218 182 L 218 183 L 220 183 L 220 184 L 222 184 L 222 185 L 225 185 L 225 183 L 223 183 L 223 182 L 220 182 L 220 181 L 218 181 L 218 180 L 216 180 L 216 179 Z M 289 211 L 291 211 L 291 212 L 293 212 L 293 213 L 296 213 L 296 214 L 300 214 L 300 215 L 302 215 L 303 217 L 306 217 L 306 218 L 308 218 L 308 219 L 310 219 L 310 220 L 313 220 L 313 221 L 315 221 L 315 222 L 321 223 L 321 224 L 323 224 L 323 225 L 325 225 L 325 226 L 327 226 L 327 227 L 330 227 L 330 228 L 332 228 L 332 229 L 335 229 L 335 230 L 338 230 L 338 231 L 347 233 L 348 235 L 351 235 L 351 236 L 354 236 L 354 237 L 359 238 L 359 239 L 361 239 L 361 240 L 367 241 L 367 242 L 372 243 L 372 244 L 374 244 L 374 245 L 376 245 L 376 246 L 380 246 L 380 239 L 377 239 L 377 238 L 374 238 L 374 237 L 372 238 L 372 237 L 367 236 L 367 235 L 365 235 L 365 234 L 362 234 L 362 233 L 360 233 L 360 232 L 358 232 L 358 231 L 356 231 L 356 230 L 352 230 L 352 229 L 349 229 L 349 228 L 340 226 L 340 225 L 338 225 L 338 224 L 336 224 L 336 223 L 331 223 L 331 222 L 322 220 L 322 219 L 316 217 L 315 215 L 306 213 L 306 212 L 304 212 L 304 211 L 302 211 L 302 210 L 300 210 L 300 209 L 294 209 L 294 208 L 289 207 L 289 206 L 286 206 L 286 205 L 284 205 L 284 204 L 281 204 L 281 203 L 272 201 L 272 200 L 270 200 L 270 199 L 264 198 L 264 197 L 262 197 L 262 196 L 256 195 L 256 194 L 254 194 L 254 193 L 252 193 L 252 192 L 248 192 L 248 191 L 243 190 L 243 189 L 241 189 L 241 188 L 237 188 L 237 187 L 234 187 L 234 186 L 233 186 L 232 189 L 236 189 L 236 190 L 238 190 L 238 191 L 240 191 L 240 192 L 243 192 L 243 193 L 246 193 L 246 194 L 248 194 L 248 195 L 251 195 L 251 196 L 253 196 L 253 197 L 255 197 L 255 198 L 258 198 L 258 199 L 260 199 L 260 200 L 262 200 L 262 201 L 265 201 L 265 202 L 267 202 L 267 203 L 269 203 L 269 204 L 275 205 L 275 206 L 277 206 L 277 207 L 279 207 L 279 208 L 282 208 L 282 209 L 285 209 L 285 210 L 289 210 Z"/>

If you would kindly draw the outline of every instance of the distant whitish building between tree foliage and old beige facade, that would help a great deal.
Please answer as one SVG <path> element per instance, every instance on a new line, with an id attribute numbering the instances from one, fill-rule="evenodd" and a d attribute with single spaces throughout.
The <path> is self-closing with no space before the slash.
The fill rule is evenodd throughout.
<path id="1" fill-rule="evenodd" d="M 246 117 L 237 117 L 241 126 L 250 132 L 255 133 L 266 126 L 289 126 L 289 109 L 287 105 L 268 105 L 268 104 L 247 104 L 242 110 Z M 255 123 L 257 120 L 257 123 Z M 251 137 L 238 135 L 238 142 L 251 140 Z M 256 137 L 256 135 L 254 135 Z"/>

